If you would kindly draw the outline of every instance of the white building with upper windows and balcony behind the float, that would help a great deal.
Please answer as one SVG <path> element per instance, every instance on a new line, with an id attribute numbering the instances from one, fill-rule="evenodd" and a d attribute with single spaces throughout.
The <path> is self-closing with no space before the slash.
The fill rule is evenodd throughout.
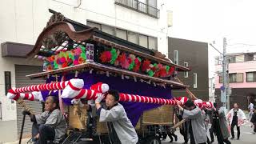
<path id="1" fill-rule="evenodd" d="M 50 19 L 48 9 L 168 55 L 167 32 L 171 25 L 171 14 L 166 10 L 166 2 L 167 0 L 2 0 L 0 127 L 9 127 L 7 131 L 0 130 L 0 143 L 18 138 L 17 130 L 20 128 L 17 127 L 20 127 L 22 116 L 17 114 L 17 109 L 20 107 L 6 98 L 6 90 L 37 83 L 26 79 L 25 75 L 41 71 L 42 63 L 26 59 L 25 55 Z"/>

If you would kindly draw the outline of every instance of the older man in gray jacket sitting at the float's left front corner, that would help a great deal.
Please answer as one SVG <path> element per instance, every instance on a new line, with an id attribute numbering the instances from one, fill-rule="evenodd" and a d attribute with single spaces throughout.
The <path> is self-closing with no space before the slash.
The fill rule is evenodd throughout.
<path id="1" fill-rule="evenodd" d="M 46 98 L 45 111 L 42 114 L 28 114 L 31 118 L 32 139 L 37 144 L 46 144 L 47 141 L 59 140 L 66 134 L 66 119 L 58 109 L 58 98 L 49 96 Z"/>

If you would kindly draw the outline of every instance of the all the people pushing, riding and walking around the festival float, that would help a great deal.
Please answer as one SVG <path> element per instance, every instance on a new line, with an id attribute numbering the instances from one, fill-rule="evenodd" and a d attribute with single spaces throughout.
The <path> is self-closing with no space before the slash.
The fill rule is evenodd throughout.
<path id="1" fill-rule="evenodd" d="M 102 100 L 105 99 L 104 105 Z M 106 95 L 99 94 L 93 105 L 86 104 L 86 110 L 96 110 L 100 122 L 106 122 L 109 130 L 111 143 L 138 143 L 138 135 L 130 119 L 126 115 L 124 107 L 118 103 L 119 94 L 117 90 L 109 90 Z M 246 115 L 239 109 L 238 103 L 225 114 L 217 103 L 214 103 L 213 109 L 200 109 L 193 101 L 188 100 L 184 105 L 177 101 L 175 106 L 176 116 L 179 121 L 185 119 L 179 130 L 184 138 L 184 144 L 190 141 L 190 144 L 206 144 L 214 142 L 214 136 L 219 144 L 230 144 L 231 138 L 234 139 L 234 127 L 237 128 L 237 139 L 240 138 L 240 126 L 246 120 Z M 248 106 L 250 111 L 249 120 L 254 126 L 256 133 L 256 110 L 253 103 Z M 58 106 L 58 98 L 49 96 L 45 102 L 45 112 L 42 114 L 30 114 L 23 111 L 23 114 L 30 116 L 32 126 L 33 141 L 38 144 L 54 141 L 65 137 L 66 119 L 62 115 Z M 230 128 L 230 130 L 229 130 Z M 210 138 L 207 136 L 210 132 Z M 172 140 L 177 141 L 177 135 L 170 127 L 167 134 Z M 171 141 L 172 142 L 172 141 Z"/>

